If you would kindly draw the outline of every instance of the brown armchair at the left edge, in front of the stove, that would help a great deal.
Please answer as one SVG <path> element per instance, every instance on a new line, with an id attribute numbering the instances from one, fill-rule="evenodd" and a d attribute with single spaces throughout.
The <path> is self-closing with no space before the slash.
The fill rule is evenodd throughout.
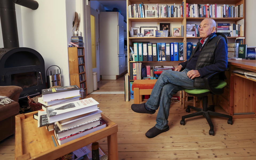
<path id="1" fill-rule="evenodd" d="M 0 86 L 0 96 L 6 96 L 14 101 L 0 105 L 0 141 L 15 133 L 15 115 L 19 113 L 19 95 L 22 88 L 18 86 Z"/>

